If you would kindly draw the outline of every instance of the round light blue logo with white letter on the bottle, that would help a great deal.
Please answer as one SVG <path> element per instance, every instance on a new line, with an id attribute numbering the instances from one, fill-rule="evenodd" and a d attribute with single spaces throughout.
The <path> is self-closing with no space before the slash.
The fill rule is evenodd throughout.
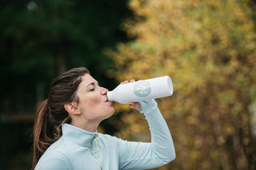
<path id="1" fill-rule="evenodd" d="M 134 85 L 134 94 L 137 97 L 147 97 L 151 93 L 150 82 L 148 81 L 138 81 Z"/>

